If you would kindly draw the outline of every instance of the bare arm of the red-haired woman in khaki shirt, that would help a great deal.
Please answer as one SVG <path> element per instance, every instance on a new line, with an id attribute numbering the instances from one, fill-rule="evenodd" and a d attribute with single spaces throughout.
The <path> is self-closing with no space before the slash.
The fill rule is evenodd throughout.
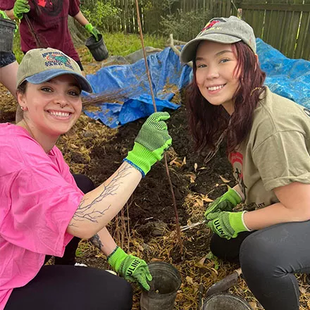
<path id="1" fill-rule="evenodd" d="M 274 192 L 280 202 L 244 213 L 244 223 L 249 229 L 310 220 L 310 184 L 292 182 L 275 188 Z"/>

